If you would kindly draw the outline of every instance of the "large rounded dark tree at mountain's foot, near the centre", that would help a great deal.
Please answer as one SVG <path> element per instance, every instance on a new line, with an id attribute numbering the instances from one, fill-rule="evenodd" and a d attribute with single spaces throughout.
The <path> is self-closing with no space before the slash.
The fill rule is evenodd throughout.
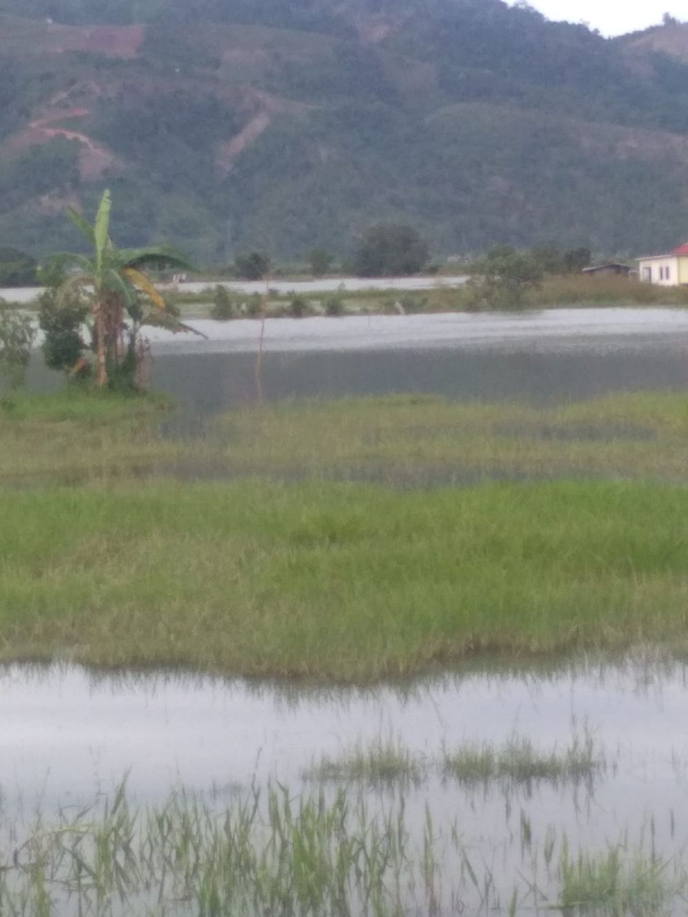
<path id="1" fill-rule="evenodd" d="M 382 223 L 363 234 L 351 265 L 361 277 L 385 277 L 416 274 L 429 258 L 427 242 L 413 226 Z"/>

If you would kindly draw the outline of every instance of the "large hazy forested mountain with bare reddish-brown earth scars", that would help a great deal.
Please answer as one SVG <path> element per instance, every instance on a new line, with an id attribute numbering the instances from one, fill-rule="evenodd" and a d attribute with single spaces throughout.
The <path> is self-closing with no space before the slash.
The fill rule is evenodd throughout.
<path id="1" fill-rule="evenodd" d="M 0 246 L 223 263 L 345 255 L 405 221 L 439 254 L 688 237 L 688 25 L 603 39 L 502 0 L 0 0 Z"/>

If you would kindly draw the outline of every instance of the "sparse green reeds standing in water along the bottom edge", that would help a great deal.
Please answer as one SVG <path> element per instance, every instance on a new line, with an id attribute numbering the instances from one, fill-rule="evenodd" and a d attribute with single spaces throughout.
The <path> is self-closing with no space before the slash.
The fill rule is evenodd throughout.
<path id="1" fill-rule="evenodd" d="M 53 821 L 39 813 L 29 827 L 8 824 L 0 909 L 15 917 L 682 913 L 681 858 L 661 860 L 627 837 L 573 851 L 566 834 L 549 827 L 533 837 L 526 821 L 508 887 L 450 817 L 440 827 L 427 808 L 420 839 L 413 822 L 403 796 L 381 806 L 347 790 L 293 797 L 273 784 L 225 808 L 183 791 L 139 808 L 122 785 Z"/>

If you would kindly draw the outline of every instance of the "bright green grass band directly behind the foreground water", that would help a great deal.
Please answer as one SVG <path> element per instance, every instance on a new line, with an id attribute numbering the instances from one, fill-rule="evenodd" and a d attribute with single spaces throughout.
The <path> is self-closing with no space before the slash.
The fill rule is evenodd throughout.
<path id="1" fill-rule="evenodd" d="M 260 480 L 6 492 L 0 654 L 407 676 L 688 635 L 688 491 Z"/>

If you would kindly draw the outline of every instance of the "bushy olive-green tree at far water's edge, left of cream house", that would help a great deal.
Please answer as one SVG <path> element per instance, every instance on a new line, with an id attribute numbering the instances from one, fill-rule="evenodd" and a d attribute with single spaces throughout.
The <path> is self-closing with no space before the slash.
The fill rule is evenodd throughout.
<path id="1" fill-rule="evenodd" d="M 476 301 L 494 308 L 518 308 L 542 275 L 532 254 L 498 246 L 487 253 L 472 281 Z"/>

